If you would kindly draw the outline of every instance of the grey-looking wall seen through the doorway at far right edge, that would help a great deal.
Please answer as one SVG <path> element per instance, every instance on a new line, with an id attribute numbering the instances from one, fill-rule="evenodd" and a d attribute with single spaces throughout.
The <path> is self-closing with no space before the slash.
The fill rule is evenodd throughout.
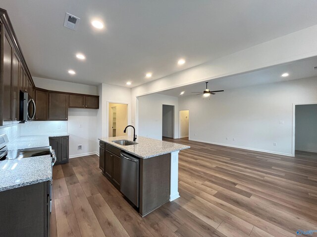
<path id="1" fill-rule="evenodd" d="M 317 104 L 295 107 L 295 150 L 317 152 Z"/>

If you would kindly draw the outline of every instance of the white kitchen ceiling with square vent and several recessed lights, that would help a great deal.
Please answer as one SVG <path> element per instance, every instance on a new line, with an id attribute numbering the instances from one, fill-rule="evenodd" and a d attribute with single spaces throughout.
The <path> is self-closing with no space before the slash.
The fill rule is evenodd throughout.
<path id="1" fill-rule="evenodd" d="M 316 0 L 1 0 L 0 7 L 34 77 L 91 85 L 137 86 L 317 24 Z M 77 31 L 63 27 L 66 12 L 81 18 Z M 92 29 L 93 18 L 106 29 Z"/>

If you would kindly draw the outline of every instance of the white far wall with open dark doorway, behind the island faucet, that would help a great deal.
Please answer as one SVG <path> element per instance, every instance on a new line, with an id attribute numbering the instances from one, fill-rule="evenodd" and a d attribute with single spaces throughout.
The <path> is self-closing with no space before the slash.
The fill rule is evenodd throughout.
<path id="1" fill-rule="evenodd" d="M 162 139 L 163 105 L 173 105 L 175 111 L 178 111 L 178 97 L 151 94 L 138 98 L 138 135 L 159 140 Z M 178 138 L 178 113 L 175 113 L 174 138 Z"/>

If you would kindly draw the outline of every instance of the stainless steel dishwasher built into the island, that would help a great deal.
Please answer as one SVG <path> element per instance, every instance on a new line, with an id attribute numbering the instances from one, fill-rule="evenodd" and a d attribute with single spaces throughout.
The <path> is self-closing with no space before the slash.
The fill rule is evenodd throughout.
<path id="1" fill-rule="evenodd" d="M 120 191 L 136 207 L 139 207 L 140 159 L 121 152 Z"/>

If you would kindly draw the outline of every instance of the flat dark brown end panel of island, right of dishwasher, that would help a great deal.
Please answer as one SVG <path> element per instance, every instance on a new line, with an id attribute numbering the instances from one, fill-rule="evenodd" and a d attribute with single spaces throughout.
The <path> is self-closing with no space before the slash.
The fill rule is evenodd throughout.
<path id="1" fill-rule="evenodd" d="M 140 161 L 140 214 L 145 216 L 169 200 L 170 154 Z"/>

